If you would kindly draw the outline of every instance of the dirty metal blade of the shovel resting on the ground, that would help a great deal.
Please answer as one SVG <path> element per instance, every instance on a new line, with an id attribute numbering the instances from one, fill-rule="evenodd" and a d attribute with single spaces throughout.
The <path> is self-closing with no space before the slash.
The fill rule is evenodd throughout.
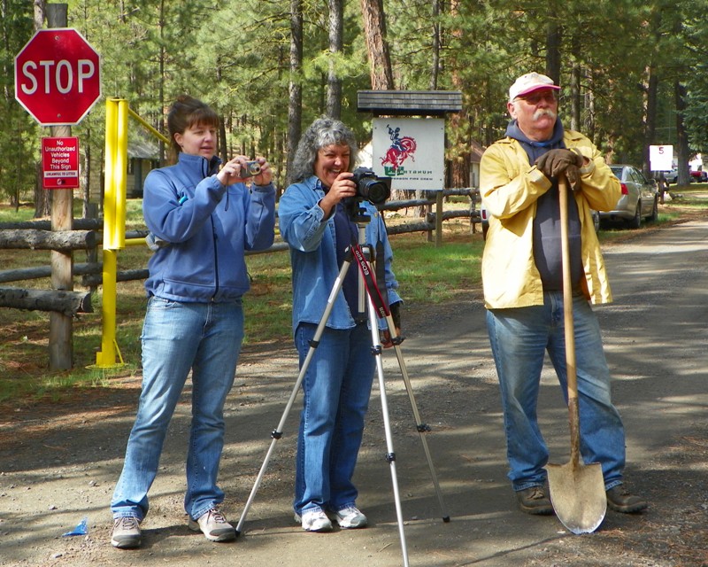
<path id="1" fill-rule="evenodd" d="M 600 464 L 549 464 L 546 470 L 550 502 L 560 523 L 573 533 L 595 532 L 607 511 Z"/>

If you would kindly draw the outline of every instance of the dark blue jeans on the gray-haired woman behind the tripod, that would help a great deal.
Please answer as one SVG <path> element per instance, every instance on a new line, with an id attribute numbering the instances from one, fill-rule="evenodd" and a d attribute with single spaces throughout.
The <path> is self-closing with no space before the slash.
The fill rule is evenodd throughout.
<path id="1" fill-rule="evenodd" d="M 295 333 L 300 367 L 317 325 L 300 323 Z M 297 514 L 353 506 L 351 478 L 357 464 L 376 361 L 366 322 L 354 329 L 325 329 L 303 377 L 303 410 L 297 439 Z"/>

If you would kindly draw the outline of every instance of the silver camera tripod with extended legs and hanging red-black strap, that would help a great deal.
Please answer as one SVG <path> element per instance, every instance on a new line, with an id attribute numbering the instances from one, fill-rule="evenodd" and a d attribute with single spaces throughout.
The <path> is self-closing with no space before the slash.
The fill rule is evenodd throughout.
<path id="1" fill-rule="evenodd" d="M 358 212 L 361 213 L 362 209 L 358 209 Z M 353 217 L 353 215 L 350 213 L 350 216 Z M 435 467 L 433 465 L 433 460 L 430 456 L 430 451 L 427 447 L 427 439 L 423 433 L 430 431 L 430 427 L 426 423 L 422 423 L 420 420 L 419 412 L 418 412 L 418 406 L 415 402 L 415 397 L 413 396 L 412 392 L 412 386 L 411 386 L 411 381 L 410 378 L 408 377 L 408 371 L 405 367 L 405 361 L 403 357 L 403 353 L 401 352 L 401 343 L 403 342 L 403 338 L 400 337 L 397 334 L 396 330 L 396 325 L 394 324 L 393 316 L 391 315 L 391 312 L 389 310 L 389 305 L 388 301 L 383 299 L 381 296 L 381 291 L 379 290 L 379 286 L 377 285 L 375 279 L 374 279 L 374 271 L 372 269 L 372 263 L 367 259 L 367 254 L 366 252 L 369 252 L 368 255 L 373 256 L 373 252 L 371 251 L 366 251 L 362 249 L 362 245 L 366 242 L 366 236 L 365 236 L 365 229 L 366 229 L 366 222 L 369 220 L 369 217 L 363 214 L 358 214 L 356 217 L 353 217 L 353 220 L 357 222 L 357 227 L 358 227 L 358 242 L 352 243 L 350 247 L 347 249 L 346 255 L 344 260 L 342 261 L 342 266 L 340 268 L 339 275 L 335 279 L 335 283 L 332 287 L 332 291 L 329 294 L 329 297 L 327 298 L 327 307 L 325 307 L 325 312 L 322 315 L 321 319 L 319 320 L 319 324 L 317 327 L 317 330 L 315 331 L 315 334 L 312 338 L 312 341 L 310 341 L 310 349 L 307 352 L 307 355 L 305 356 L 304 362 L 302 364 L 302 367 L 300 369 L 300 372 L 297 376 L 297 380 L 295 383 L 295 386 L 293 387 L 293 391 L 290 393 L 290 397 L 288 400 L 288 403 L 285 407 L 285 410 L 283 411 L 283 414 L 281 416 L 281 421 L 278 423 L 277 427 L 273 430 L 271 433 L 271 438 L 273 439 L 271 441 L 270 447 L 268 447 L 268 451 L 266 453 L 266 458 L 261 465 L 260 470 L 258 471 L 258 477 L 256 478 L 256 482 L 253 485 L 253 488 L 250 491 L 250 495 L 248 500 L 246 501 L 246 505 L 243 509 L 241 518 L 239 519 L 238 525 L 236 526 L 236 535 L 240 535 L 242 531 L 242 525 L 244 524 L 246 517 L 248 515 L 248 512 L 250 510 L 250 506 L 253 503 L 256 493 L 258 492 L 258 487 L 260 486 L 260 483 L 266 473 L 266 468 L 268 465 L 268 462 L 270 461 L 270 458 L 273 454 L 273 449 L 275 448 L 275 444 L 277 443 L 278 439 L 281 439 L 282 437 L 282 430 L 285 425 L 285 422 L 289 416 L 290 409 L 292 408 L 297 392 L 300 389 L 300 385 L 303 382 L 305 373 L 307 372 L 308 366 L 310 365 L 310 362 L 312 361 L 312 356 L 315 353 L 315 350 L 319 346 L 319 339 L 322 337 L 322 333 L 325 330 L 325 327 L 327 326 L 327 319 L 329 318 L 329 315 L 332 311 L 332 308 L 334 307 L 335 304 L 335 298 L 337 297 L 339 291 L 342 289 L 342 283 L 344 281 L 344 277 L 346 276 L 350 265 L 353 262 L 356 262 L 359 268 L 359 283 L 358 283 L 358 307 L 359 307 L 359 315 L 361 316 L 366 316 L 368 315 L 369 319 L 369 325 L 371 327 L 371 336 L 372 336 L 372 354 L 376 358 L 376 371 L 379 379 L 379 390 L 380 390 L 380 397 L 381 397 L 381 411 L 383 415 L 383 424 L 384 424 L 384 431 L 385 431 L 385 438 L 386 438 L 386 447 L 387 447 L 387 453 L 385 455 L 386 461 L 389 462 L 390 465 L 390 471 L 391 471 L 391 481 L 393 485 L 393 493 L 394 493 L 394 501 L 396 505 L 396 518 L 398 522 L 398 534 L 399 538 L 401 540 L 401 549 L 403 552 L 403 558 L 404 558 L 404 567 L 408 567 L 408 550 L 406 548 L 405 544 L 405 533 L 404 533 L 404 521 L 403 521 L 403 514 L 401 511 L 401 499 L 400 495 L 398 492 L 398 480 L 396 476 L 396 454 L 394 453 L 393 450 L 393 441 L 391 437 L 391 427 L 390 427 L 390 422 L 389 422 L 389 406 L 388 406 L 388 400 L 386 396 L 386 386 L 384 384 L 384 378 L 383 378 L 383 364 L 381 361 L 381 352 L 382 352 L 382 346 L 381 346 L 381 338 L 379 335 L 379 322 L 377 317 L 381 317 L 382 319 L 386 320 L 386 324 L 389 329 L 389 334 L 391 337 L 391 343 L 392 346 L 396 352 L 396 359 L 398 361 L 398 366 L 401 370 L 401 374 L 404 378 L 404 384 L 406 391 L 408 392 L 408 398 L 411 402 L 411 407 L 412 407 L 412 412 L 413 416 L 415 418 L 416 422 L 416 430 L 419 432 L 419 438 L 422 442 L 423 445 L 423 450 L 424 453 L 426 454 L 427 458 L 427 464 L 428 468 L 430 469 L 430 474 L 433 480 L 433 485 L 435 486 L 435 493 L 437 494 L 438 501 L 440 503 L 441 510 L 443 512 L 443 522 L 450 522 L 450 516 L 447 514 L 445 510 L 445 505 L 443 502 L 443 496 L 440 491 L 440 485 L 437 480 L 437 476 L 435 474 Z M 381 262 L 383 254 L 380 252 L 379 255 L 381 256 Z M 381 263 L 382 265 L 382 263 Z M 385 293 L 386 287 L 385 285 L 382 285 L 383 291 Z M 363 319 L 366 320 L 366 319 Z"/>

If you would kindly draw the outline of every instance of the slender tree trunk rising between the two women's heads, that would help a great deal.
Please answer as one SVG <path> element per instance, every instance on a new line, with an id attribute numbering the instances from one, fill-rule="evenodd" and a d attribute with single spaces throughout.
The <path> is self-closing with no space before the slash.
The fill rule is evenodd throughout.
<path id="1" fill-rule="evenodd" d="M 303 89 L 300 72 L 303 66 L 303 4 L 302 0 L 290 0 L 290 87 L 288 100 L 288 163 L 286 185 L 290 177 L 297 144 L 302 134 Z"/>

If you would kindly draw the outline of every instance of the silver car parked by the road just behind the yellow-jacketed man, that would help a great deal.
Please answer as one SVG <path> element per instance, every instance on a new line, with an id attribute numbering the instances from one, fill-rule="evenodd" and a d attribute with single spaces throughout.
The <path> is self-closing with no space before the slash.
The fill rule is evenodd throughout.
<path id="1" fill-rule="evenodd" d="M 620 180 L 622 196 L 612 211 L 600 211 L 600 220 L 623 221 L 630 229 L 638 229 L 642 219 L 656 221 L 657 182 L 648 180 L 639 169 L 627 164 L 612 164 L 610 169 Z"/>

